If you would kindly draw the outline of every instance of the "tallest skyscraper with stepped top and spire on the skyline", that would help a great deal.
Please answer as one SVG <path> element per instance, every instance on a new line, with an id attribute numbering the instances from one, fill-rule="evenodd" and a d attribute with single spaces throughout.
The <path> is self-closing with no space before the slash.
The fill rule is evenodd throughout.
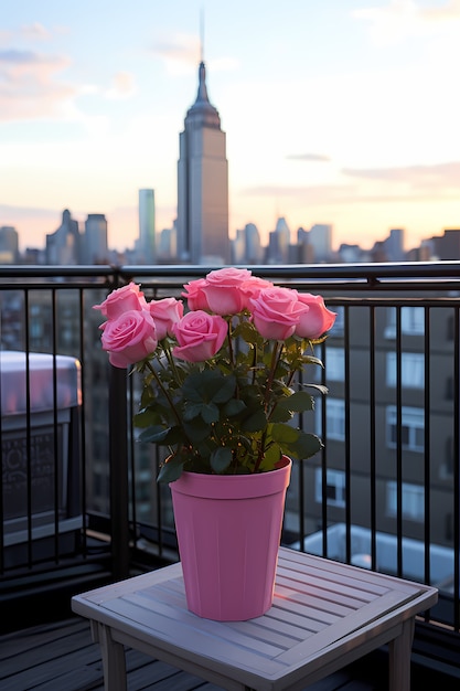
<path id="1" fill-rule="evenodd" d="M 207 97 L 205 79 L 202 61 L 196 100 L 179 139 L 178 258 L 191 264 L 228 264 L 226 136 Z"/>

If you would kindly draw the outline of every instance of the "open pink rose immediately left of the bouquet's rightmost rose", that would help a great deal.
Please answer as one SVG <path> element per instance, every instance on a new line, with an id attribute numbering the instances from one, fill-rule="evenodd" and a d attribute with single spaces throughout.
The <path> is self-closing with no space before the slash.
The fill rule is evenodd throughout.
<path id="1" fill-rule="evenodd" d="M 309 309 L 291 288 L 265 288 L 256 298 L 249 298 L 249 305 L 260 336 L 278 341 L 292 336 L 301 315 Z"/>

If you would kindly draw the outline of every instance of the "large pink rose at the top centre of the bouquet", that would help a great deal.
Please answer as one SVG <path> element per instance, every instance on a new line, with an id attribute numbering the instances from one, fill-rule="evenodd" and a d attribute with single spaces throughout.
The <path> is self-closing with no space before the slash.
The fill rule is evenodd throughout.
<path id="1" fill-rule="evenodd" d="M 236 315 L 246 307 L 243 284 L 250 277 L 247 268 L 220 268 L 210 272 L 202 290 L 216 315 Z"/>

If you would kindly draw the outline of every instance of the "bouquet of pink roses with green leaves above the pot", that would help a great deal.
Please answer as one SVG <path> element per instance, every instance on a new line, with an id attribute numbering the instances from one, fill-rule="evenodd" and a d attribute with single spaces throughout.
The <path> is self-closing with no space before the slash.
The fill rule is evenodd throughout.
<path id="1" fill-rule="evenodd" d="M 321 440 L 292 418 L 312 410 L 308 389 L 327 392 L 296 376 L 322 365 L 312 347 L 335 320 L 323 298 L 231 267 L 184 289 L 185 313 L 182 300 L 147 301 L 133 283 L 95 305 L 110 363 L 142 375 L 135 424 L 168 451 L 158 479 L 261 472 L 284 455 L 314 455 Z"/>

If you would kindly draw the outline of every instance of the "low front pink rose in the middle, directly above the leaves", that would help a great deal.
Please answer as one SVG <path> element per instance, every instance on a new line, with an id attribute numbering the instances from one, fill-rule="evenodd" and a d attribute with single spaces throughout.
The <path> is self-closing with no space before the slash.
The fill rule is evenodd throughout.
<path id="1" fill-rule="evenodd" d="M 202 309 L 186 313 L 173 326 L 178 340 L 172 354 L 188 362 L 204 362 L 218 352 L 226 339 L 227 322 Z"/>

